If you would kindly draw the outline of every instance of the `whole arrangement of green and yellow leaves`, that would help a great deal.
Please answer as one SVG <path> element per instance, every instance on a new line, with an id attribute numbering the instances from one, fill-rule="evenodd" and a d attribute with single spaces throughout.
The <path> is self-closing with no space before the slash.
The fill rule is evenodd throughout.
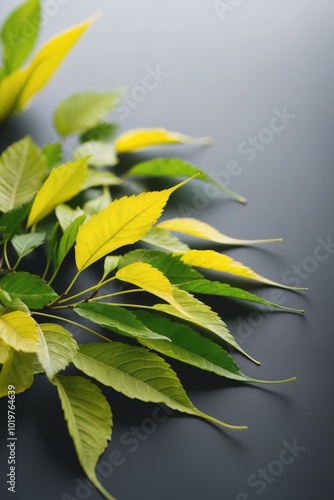
<path id="1" fill-rule="evenodd" d="M 92 22 L 54 37 L 22 68 L 35 44 L 39 20 L 40 2 L 29 0 L 3 25 L 2 121 L 26 107 Z M 35 27 L 29 37 L 24 35 L 28 22 Z M 288 288 L 212 249 L 213 244 L 220 248 L 277 240 L 237 240 L 190 217 L 160 220 L 173 192 L 186 189 L 188 182 L 212 183 L 238 201 L 243 202 L 242 197 L 178 158 L 142 161 L 122 175 L 112 171 L 122 153 L 207 142 L 165 129 L 119 135 L 117 125 L 106 117 L 121 94 L 69 97 L 54 113 L 60 142 L 40 148 L 27 136 L 0 157 L 0 396 L 7 396 L 8 386 L 21 393 L 35 376 L 46 376 L 58 391 L 85 473 L 108 499 L 113 497 L 99 483 L 95 468 L 111 439 L 112 412 L 96 382 L 129 398 L 245 429 L 197 409 L 165 357 L 236 381 L 271 383 L 240 371 L 229 350 L 257 361 L 198 295 L 302 312 L 206 277 L 205 270 L 210 270 L 218 276 L 224 273 L 222 279 L 227 274 Z M 64 141 L 69 136 L 78 141 L 66 159 Z M 143 177 L 185 180 L 138 193 L 136 179 Z M 119 197 L 121 186 L 134 194 Z M 192 247 L 189 237 L 195 242 Z M 205 249 L 196 244 L 203 240 Z M 34 256 L 42 269 L 38 274 L 27 271 Z M 98 277 L 87 286 L 91 266 Z M 80 329 L 91 334 L 90 342 L 77 341 Z"/>

